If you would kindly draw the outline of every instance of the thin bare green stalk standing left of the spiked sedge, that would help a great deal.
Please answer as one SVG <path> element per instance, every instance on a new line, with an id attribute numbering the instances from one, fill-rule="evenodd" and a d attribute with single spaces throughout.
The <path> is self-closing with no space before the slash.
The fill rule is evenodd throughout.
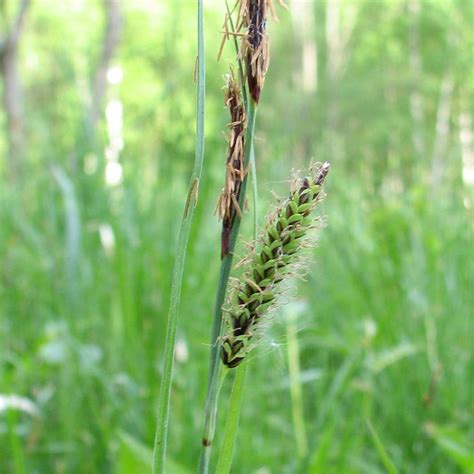
<path id="1" fill-rule="evenodd" d="M 197 104 L 196 104 L 196 150 L 194 166 L 191 173 L 188 197 L 183 211 L 181 227 L 178 236 L 176 260 L 171 282 L 170 305 L 168 311 L 168 326 L 164 351 L 163 378 L 160 387 L 158 404 L 158 419 L 156 424 L 155 444 L 153 450 L 153 474 L 165 472 L 166 441 L 168 434 L 169 407 L 171 383 L 173 376 L 174 352 L 176 346 L 176 331 L 178 326 L 179 307 L 181 302 L 181 287 L 183 280 L 184 262 L 189 239 L 189 231 L 197 204 L 197 193 L 204 162 L 204 105 L 205 105 L 205 58 L 204 58 L 204 20 L 203 0 L 197 2 L 198 21 L 198 74 L 197 74 Z"/>

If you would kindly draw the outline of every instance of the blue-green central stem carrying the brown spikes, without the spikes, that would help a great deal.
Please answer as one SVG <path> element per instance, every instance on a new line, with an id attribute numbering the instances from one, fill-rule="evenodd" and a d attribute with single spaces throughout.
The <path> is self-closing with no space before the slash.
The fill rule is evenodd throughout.
<path id="1" fill-rule="evenodd" d="M 255 133 L 255 119 L 256 119 L 257 107 L 252 100 L 248 101 L 247 120 L 248 127 L 245 134 L 245 163 L 244 166 L 248 166 L 252 146 L 253 138 Z M 245 195 L 247 190 L 248 177 L 246 177 L 242 183 L 239 206 L 244 209 Z M 209 463 L 211 457 L 212 443 L 214 441 L 215 431 L 215 418 L 217 416 L 217 403 L 218 403 L 218 374 L 220 370 L 219 360 L 219 337 L 222 333 L 222 305 L 225 301 L 225 295 L 227 290 L 227 283 L 229 281 L 230 270 L 232 268 L 232 261 L 234 257 L 235 244 L 237 242 L 237 236 L 239 234 L 241 219 L 236 215 L 234 225 L 230 234 L 229 241 L 229 253 L 223 258 L 221 262 L 221 270 L 219 274 L 219 281 L 217 284 L 216 300 L 214 304 L 214 320 L 212 323 L 212 334 L 211 334 L 211 360 L 209 366 L 209 385 L 207 389 L 206 399 L 206 410 L 205 410 L 205 421 L 204 421 L 204 433 L 202 439 L 202 450 L 201 458 L 199 461 L 199 473 L 207 474 L 209 472 Z"/>

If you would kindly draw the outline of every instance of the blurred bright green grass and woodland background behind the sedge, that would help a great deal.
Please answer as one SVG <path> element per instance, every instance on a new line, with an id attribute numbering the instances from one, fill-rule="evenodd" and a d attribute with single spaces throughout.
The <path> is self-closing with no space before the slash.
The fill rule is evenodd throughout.
<path id="1" fill-rule="evenodd" d="M 234 54 L 229 44 L 216 61 L 225 4 L 205 3 L 206 156 L 181 305 L 171 474 L 196 471 L 219 268 L 222 87 Z M 8 25 L 19 2 L 0 5 Z M 119 7 L 97 122 L 110 13 L 98 0 L 28 9 L 14 173 L 0 113 L 2 474 L 150 466 L 194 155 L 196 4 Z M 314 157 L 332 165 L 327 227 L 298 296 L 252 356 L 232 472 L 474 472 L 472 4 L 294 1 L 277 10 L 257 119 L 260 220 L 272 192 L 284 196 L 292 170 Z"/>

